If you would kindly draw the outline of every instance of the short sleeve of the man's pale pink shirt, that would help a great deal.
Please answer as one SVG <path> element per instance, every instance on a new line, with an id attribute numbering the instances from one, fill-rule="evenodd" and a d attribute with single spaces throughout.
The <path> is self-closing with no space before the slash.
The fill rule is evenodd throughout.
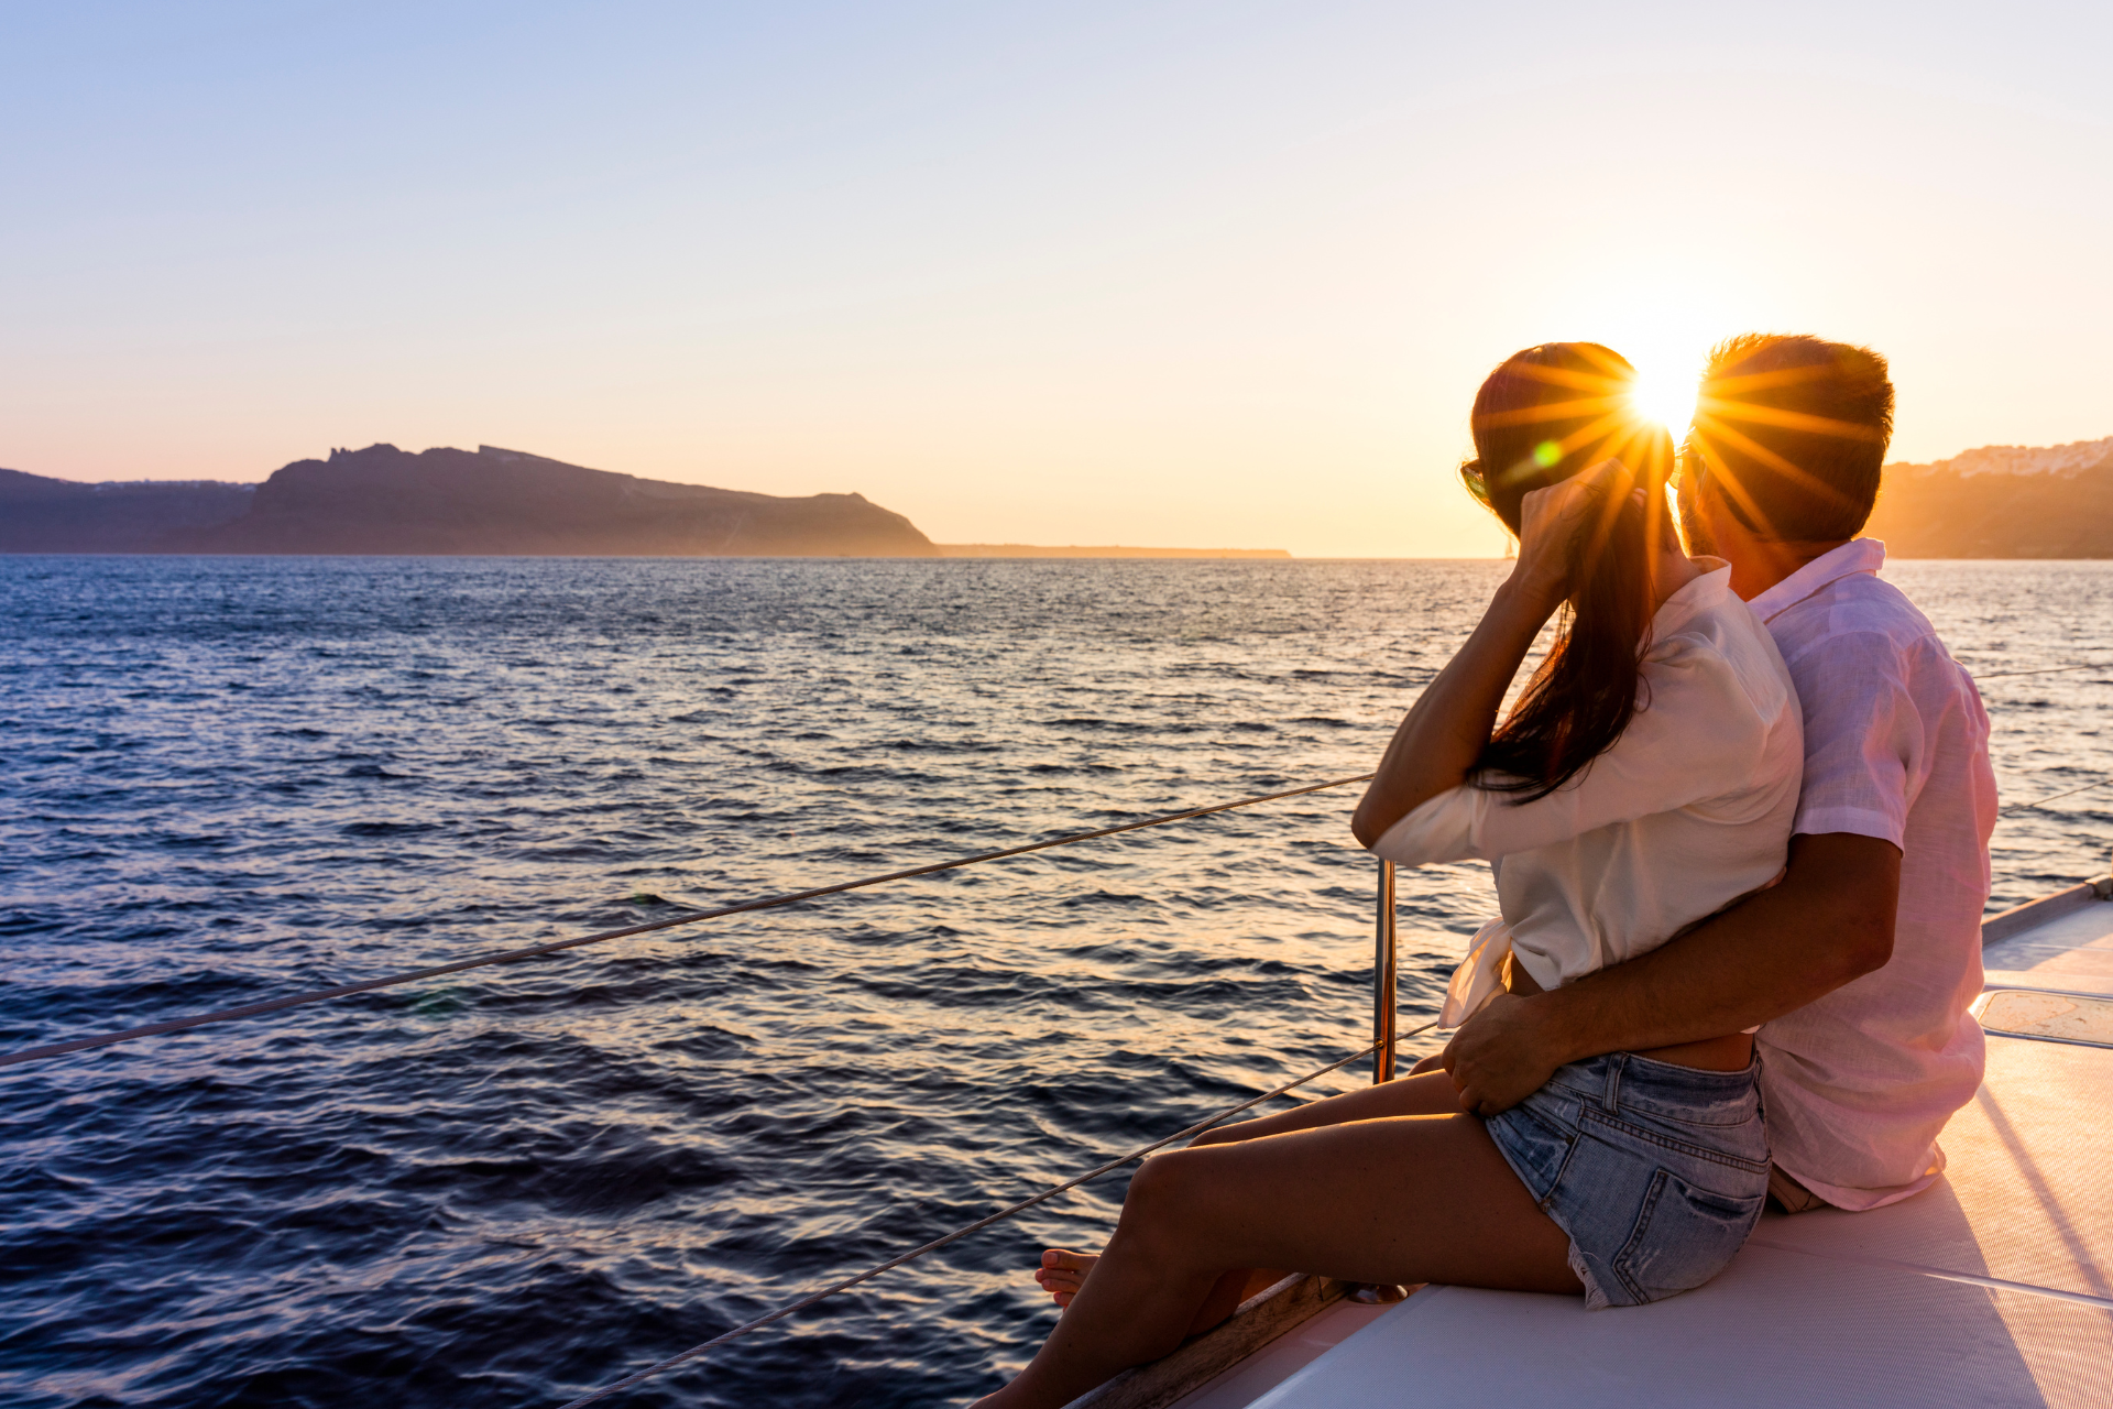
<path id="1" fill-rule="evenodd" d="M 1805 792 L 1792 830 L 1902 845 L 1927 750 L 1900 646 L 1878 632 L 1826 636 L 1798 653 L 1790 676 L 1805 708 Z"/>

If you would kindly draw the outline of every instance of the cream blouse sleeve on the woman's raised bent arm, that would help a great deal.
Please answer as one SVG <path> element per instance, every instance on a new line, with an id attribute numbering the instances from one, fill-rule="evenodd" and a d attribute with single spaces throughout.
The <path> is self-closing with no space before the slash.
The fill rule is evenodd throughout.
<path id="1" fill-rule="evenodd" d="M 1720 651 L 1671 644 L 1663 659 L 1644 661 L 1638 695 L 1644 708 L 1610 750 L 1562 788 L 1530 803 L 1473 784 L 1452 788 L 1390 826 L 1373 853 L 1401 866 L 1494 860 L 1747 792 L 1762 782 L 1773 720 Z M 1775 703 L 1788 708 L 1788 699 Z"/>

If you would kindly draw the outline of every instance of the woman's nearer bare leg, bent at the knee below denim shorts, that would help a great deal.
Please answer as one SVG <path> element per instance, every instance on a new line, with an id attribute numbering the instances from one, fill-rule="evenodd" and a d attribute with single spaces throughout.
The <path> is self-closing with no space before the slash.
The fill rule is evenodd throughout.
<path id="1" fill-rule="evenodd" d="M 1166 1354 L 1236 1267 L 1576 1295 L 1568 1253 L 1473 1115 L 1392 1115 L 1164 1153 L 1137 1170 L 1116 1236 L 1056 1331 L 983 1407 L 1056 1409 Z"/>

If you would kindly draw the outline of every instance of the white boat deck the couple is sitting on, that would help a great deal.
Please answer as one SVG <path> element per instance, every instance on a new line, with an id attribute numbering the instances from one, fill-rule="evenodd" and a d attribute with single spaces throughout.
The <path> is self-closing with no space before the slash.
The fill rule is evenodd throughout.
<path id="1" fill-rule="evenodd" d="M 1990 987 L 2113 997 L 2113 904 L 2043 915 L 1990 923 Z M 2083 1031 L 2069 1006 L 2041 1008 L 2009 1012 Z M 1925 1194 L 1771 1213 L 1684 1297 L 1587 1312 L 1431 1286 L 1338 1305 L 1181 1407 L 2113 1405 L 2113 1048 L 1990 1031 L 1988 1075 L 1942 1147 Z"/>

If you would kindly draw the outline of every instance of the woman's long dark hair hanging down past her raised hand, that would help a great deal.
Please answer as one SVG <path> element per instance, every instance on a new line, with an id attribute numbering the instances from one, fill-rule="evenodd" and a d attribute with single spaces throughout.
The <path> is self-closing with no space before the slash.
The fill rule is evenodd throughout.
<path id="1" fill-rule="evenodd" d="M 1555 644 L 1475 763 L 1479 788 L 1521 803 L 1576 777 L 1638 710 L 1673 442 L 1638 416 L 1633 387 L 1635 368 L 1597 342 L 1542 342 L 1507 357 L 1475 395 L 1475 458 L 1460 480 L 1513 534 L 1526 494 L 1604 458 L 1619 456 L 1646 490 L 1638 505 L 1623 486 L 1581 520 Z"/>

